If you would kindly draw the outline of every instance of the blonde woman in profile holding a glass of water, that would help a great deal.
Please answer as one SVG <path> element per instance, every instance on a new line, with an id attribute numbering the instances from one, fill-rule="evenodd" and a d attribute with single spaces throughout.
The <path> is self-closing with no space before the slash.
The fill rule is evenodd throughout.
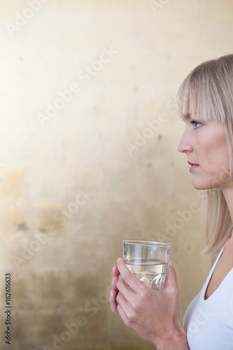
<path id="1" fill-rule="evenodd" d="M 186 128 L 178 151 L 188 157 L 192 185 L 202 199 L 202 230 L 212 258 L 199 294 L 179 321 L 173 262 L 164 289 L 152 290 L 113 267 L 111 309 L 157 350 L 233 349 L 233 55 L 199 64 L 178 90 L 178 112 Z"/>

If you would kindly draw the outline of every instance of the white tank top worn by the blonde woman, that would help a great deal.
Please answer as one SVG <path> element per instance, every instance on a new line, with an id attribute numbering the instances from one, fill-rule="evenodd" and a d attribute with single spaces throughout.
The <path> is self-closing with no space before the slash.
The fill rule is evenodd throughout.
<path id="1" fill-rule="evenodd" d="M 222 253 L 223 248 L 202 290 L 185 311 L 183 328 L 187 332 L 190 350 L 233 350 L 233 268 L 213 294 L 204 299 Z"/>

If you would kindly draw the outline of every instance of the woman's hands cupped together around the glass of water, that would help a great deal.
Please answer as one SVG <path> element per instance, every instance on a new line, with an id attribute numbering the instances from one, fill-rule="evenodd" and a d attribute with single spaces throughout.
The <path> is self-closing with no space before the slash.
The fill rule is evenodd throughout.
<path id="1" fill-rule="evenodd" d="M 122 259 L 117 267 L 113 267 L 112 311 L 157 349 L 168 349 L 171 344 L 178 345 L 178 349 L 189 349 L 185 330 L 179 321 L 178 296 L 173 266 L 169 266 L 164 289 L 159 291 L 144 286 L 129 272 Z"/>

